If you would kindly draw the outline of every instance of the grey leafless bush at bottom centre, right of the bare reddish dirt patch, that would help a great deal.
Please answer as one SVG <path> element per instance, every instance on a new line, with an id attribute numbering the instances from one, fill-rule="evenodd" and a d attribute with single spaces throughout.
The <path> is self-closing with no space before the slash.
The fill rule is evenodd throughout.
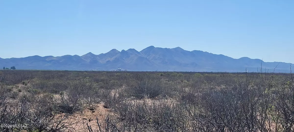
<path id="1" fill-rule="evenodd" d="M 124 102 L 106 116 L 101 131 L 186 131 L 183 108 L 175 102 Z M 101 121 L 98 121 L 101 124 Z M 95 131 L 91 128 L 91 131 Z M 96 130 L 98 131 L 98 130 Z"/>

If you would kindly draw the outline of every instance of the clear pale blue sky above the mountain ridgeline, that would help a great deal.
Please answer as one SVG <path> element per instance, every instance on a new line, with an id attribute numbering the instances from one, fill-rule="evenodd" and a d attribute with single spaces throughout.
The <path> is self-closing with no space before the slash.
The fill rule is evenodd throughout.
<path id="1" fill-rule="evenodd" d="M 0 57 L 148 47 L 294 63 L 293 0 L 0 0 Z"/>

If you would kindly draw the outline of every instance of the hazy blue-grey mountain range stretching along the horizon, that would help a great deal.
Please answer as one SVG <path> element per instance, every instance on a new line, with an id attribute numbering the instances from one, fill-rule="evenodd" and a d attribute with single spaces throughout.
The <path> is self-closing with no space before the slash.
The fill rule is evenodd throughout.
<path id="1" fill-rule="evenodd" d="M 91 52 L 64 56 L 29 56 L 24 58 L 0 58 L 0 66 L 15 66 L 16 69 L 46 70 L 114 70 L 127 71 L 198 71 L 198 72 L 257 72 L 263 71 L 289 73 L 290 63 L 264 62 L 260 59 L 242 57 L 233 59 L 225 55 L 204 51 L 186 51 L 180 47 L 159 48 L 149 46 L 142 51 L 112 49 L 105 54 Z"/>

